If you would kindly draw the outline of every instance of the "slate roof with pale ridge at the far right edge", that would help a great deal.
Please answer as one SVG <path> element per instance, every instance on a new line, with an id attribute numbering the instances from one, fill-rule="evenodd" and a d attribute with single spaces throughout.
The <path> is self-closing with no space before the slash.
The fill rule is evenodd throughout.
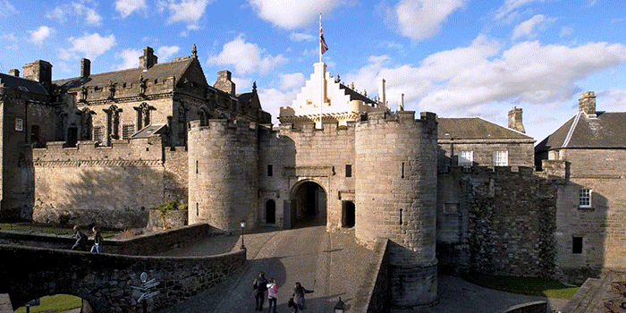
<path id="1" fill-rule="evenodd" d="M 542 140 L 536 152 L 558 148 L 626 148 L 626 112 L 583 112 Z"/>

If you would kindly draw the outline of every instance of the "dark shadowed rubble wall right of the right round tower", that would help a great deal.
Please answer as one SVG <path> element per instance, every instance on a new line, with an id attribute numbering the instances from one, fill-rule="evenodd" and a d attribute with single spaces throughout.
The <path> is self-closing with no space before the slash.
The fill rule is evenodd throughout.
<path id="1" fill-rule="evenodd" d="M 560 182 L 529 167 L 440 173 L 437 258 L 444 273 L 553 276 Z M 441 183 L 445 182 L 445 183 Z M 451 191 L 452 190 L 452 191 Z"/>

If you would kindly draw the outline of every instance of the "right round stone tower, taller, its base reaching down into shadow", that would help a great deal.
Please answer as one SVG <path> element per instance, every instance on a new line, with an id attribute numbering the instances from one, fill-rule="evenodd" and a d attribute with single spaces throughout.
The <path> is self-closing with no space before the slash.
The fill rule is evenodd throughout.
<path id="1" fill-rule="evenodd" d="M 370 113 L 355 134 L 355 236 L 388 238 L 392 305 L 436 302 L 436 114 Z"/>

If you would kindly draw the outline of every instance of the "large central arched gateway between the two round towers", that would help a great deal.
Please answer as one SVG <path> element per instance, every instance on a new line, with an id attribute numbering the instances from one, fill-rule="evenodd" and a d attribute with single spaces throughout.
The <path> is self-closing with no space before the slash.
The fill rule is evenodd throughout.
<path id="1" fill-rule="evenodd" d="M 317 182 L 300 182 L 292 192 L 292 226 L 326 225 L 326 191 Z"/>

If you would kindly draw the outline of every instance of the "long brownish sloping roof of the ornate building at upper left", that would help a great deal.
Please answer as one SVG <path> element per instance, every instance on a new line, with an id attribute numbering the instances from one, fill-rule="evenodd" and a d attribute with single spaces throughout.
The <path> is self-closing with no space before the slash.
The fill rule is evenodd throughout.
<path id="1" fill-rule="evenodd" d="M 80 86 L 106 86 L 109 81 L 112 82 L 134 82 L 139 81 L 141 77 L 146 80 L 164 79 L 166 77 L 174 77 L 178 81 L 182 74 L 189 68 L 193 62 L 193 57 L 180 57 L 172 62 L 157 63 L 144 71 L 141 67 L 127 70 L 103 72 L 99 74 L 91 74 L 89 77 L 71 78 L 66 80 L 54 80 L 53 83 L 60 86 L 61 89 L 72 89 Z"/>

